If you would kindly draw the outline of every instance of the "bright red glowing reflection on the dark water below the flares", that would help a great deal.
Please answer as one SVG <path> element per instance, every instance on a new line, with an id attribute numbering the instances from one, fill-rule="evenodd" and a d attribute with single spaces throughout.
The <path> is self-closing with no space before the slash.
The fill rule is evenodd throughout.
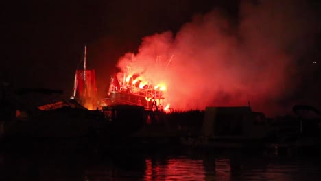
<path id="1" fill-rule="evenodd" d="M 145 160 L 145 180 L 232 180 L 240 163 L 226 158 L 193 160 L 169 159 L 167 162 Z M 232 164 L 232 165 L 231 165 Z"/>

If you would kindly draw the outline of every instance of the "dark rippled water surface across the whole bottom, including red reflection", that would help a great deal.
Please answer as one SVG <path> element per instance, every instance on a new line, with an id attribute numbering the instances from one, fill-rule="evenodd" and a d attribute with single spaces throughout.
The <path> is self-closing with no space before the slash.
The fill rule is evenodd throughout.
<path id="1" fill-rule="evenodd" d="M 0 180 L 321 180 L 319 156 L 239 152 L 0 154 Z"/>

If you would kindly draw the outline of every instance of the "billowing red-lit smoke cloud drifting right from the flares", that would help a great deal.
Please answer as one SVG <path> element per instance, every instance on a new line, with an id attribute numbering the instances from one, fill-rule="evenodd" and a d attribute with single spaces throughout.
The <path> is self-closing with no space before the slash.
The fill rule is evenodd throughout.
<path id="1" fill-rule="evenodd" d="M 242 3 L 238 23 L 213 10 L 194 16 L 175 36 L 143 38 L 138 53 L 127 53 L 117 66 L 164 82 L 165 101 L 175 110 L 250 101 L 253 110 L 276 114 L 297 86 L 298 57 L 319 31 L 308 10 L 302 1 Z"/>

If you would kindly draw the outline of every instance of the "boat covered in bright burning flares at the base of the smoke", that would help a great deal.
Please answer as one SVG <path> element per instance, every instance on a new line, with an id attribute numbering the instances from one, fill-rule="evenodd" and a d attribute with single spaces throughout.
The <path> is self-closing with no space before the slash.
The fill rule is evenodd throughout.
<path id="1" fill-rule="evenodd" d="M 156 60 L 158 61 L 158 60 Z M 152 80 L 141 80 L 141 74 L 131 71 L 131 66 L 126 67 L 122 81 L 117 75 L 110 79 L 110 86 L 106 97 L 100 101 L 101 106 L 112 104 L 128 104 L 143 106 L 147 111 L 163 111 L 171 113 L 173 108 L 165 106 L 165 86 L 152 84 Z"/>

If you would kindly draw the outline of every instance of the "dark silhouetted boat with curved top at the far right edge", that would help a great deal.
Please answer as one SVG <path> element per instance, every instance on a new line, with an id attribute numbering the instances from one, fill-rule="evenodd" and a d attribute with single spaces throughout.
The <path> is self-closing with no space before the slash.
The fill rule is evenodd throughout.
<path id="1" fill-rule="evenodd" d="M 321 151 L 321 112 L 313 106 L 296 105 L 296 117 L 287 123 L 287 130 L 280 129 L 268 149 L 274 154 L 305 154 Z M 278 125 L 284 128 L 285 125 Z"/>

